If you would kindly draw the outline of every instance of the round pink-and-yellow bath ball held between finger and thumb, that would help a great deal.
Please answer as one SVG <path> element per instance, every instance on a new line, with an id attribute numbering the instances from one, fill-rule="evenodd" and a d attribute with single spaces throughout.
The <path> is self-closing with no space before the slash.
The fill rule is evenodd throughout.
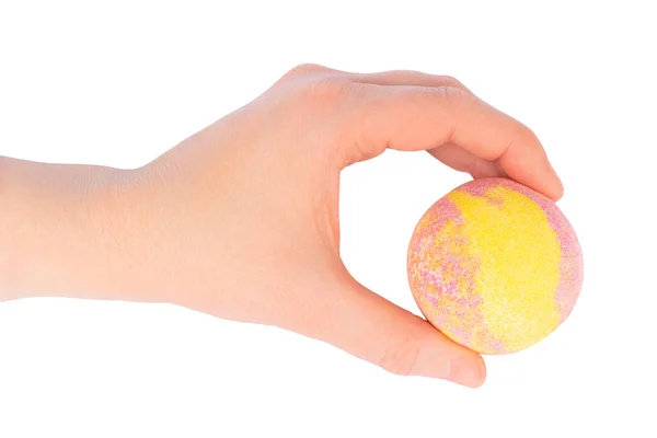
<path id="1" fill-rule="evenodd" d="M 550 198 L 507 178 L 457 187 L 417 223 L 408 283 L 425 318 L 477 353 L 522 350 L 570 314 L 583 283 L 573 227 Z"/>

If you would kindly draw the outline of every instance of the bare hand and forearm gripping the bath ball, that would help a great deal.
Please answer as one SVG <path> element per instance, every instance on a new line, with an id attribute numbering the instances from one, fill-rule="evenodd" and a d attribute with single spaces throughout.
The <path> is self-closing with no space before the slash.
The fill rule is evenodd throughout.
<path id="1" fill-rule="evenodd" d="M 563 194 L 532 131 L 456 79 L 306 65 L 143 168 L 0 158 L 0 300 L 169 302 L 480 387 L 481 356 L 341 261 L 339 172 L 387 148 Z"/>

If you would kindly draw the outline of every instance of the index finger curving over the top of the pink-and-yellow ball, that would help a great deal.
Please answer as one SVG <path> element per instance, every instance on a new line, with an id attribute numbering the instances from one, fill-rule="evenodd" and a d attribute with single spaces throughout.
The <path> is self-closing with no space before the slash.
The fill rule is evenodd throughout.
<path id="1" fill-rule="evenodd" d="M 367 87 L 367 99 L 354 102 L 356 117 L 348 114 L 345 120 L 356 148 L 351 161 L 387 148 L 431 151 L 452 143 L 552 199 L 563 195 L 535 135 L 472 93 L 453 87 Z"/>

